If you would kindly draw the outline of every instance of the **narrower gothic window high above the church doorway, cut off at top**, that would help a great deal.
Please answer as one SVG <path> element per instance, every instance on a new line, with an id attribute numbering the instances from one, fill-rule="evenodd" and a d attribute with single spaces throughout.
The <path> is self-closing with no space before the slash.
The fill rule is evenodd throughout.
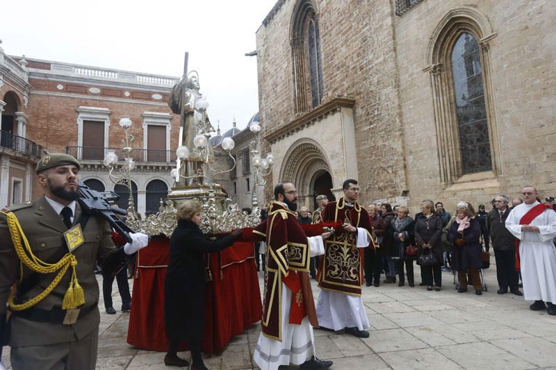
<path id="1" fill-rule="evenodd" d="M 292 20 L 291 46 L 295 112 L 306 112 L 322 103 L 324 90 L 320 31 L 313 1 L 299 0 L 295 6 Z"/>

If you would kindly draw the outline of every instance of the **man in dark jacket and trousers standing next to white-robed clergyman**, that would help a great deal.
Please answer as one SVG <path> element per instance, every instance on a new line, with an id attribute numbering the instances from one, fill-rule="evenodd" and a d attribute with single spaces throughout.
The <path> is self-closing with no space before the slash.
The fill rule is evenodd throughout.
<path id="1" fill-rule="evenodd" d="M 509 197 L 500 194 L 494 199 L 496 208 L 489 212 L 486 224 L 491 230 L 492 249 L 496 259 L 496 278 L 498 279 L 498 294 L 509 291 L 516 296 L 522 296 L 518 289 L 518 274 L 516 271 L 516 239 L 506 228 L 509 215 Z"/>

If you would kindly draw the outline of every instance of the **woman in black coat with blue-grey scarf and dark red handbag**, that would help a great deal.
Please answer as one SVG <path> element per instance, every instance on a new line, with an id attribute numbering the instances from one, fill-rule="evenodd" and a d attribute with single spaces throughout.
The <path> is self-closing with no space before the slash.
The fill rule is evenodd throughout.
<path id="1" fill-rule="evenodd" d="M 413 276 L 413 261 L 416 258 L 417 247 L 411 241 L 414 238 L 415 221 L 408 216 L 409 210 L 403 205 L 398 208 L 398 217 L 392 221 L 393 232 L 393 249 L 397 250 L 400 255 L 400 283 L 399 287 L 404 286 L 404 263 L 405 271 L 407 273 L 407 283 L 410 287 L 415 286 Z M 416 249 L 415 255 L 412 251 Z"/>

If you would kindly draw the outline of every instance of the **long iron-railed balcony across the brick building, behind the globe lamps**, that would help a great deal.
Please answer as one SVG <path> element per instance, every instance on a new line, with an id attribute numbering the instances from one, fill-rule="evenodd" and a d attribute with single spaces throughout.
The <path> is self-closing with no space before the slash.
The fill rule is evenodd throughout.
<path id="1" fill-rule="evenodd" d="M 117 158 L 124 159 L 124 149 L 122 148 L 104 148 L 102 146 L 66 146 L 65 152 L 73 155 L 77 160 L 83 162 L 102 162 L 104 155 L 108 151 L 114 151 Z M 167 151 L 161 149 L 133 149 L 131 152 L 133 160 L 140 164 L 152 163 L 160 165 L 161 163 L 167 164 L 176 162 L 176 151 Z"/>

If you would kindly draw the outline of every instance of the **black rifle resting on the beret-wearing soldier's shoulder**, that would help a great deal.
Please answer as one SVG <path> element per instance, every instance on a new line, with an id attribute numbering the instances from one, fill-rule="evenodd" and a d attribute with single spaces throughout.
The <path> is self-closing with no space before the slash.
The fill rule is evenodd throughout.
<path id="1" fill-rule="evenodd" d="M 97 190 L 92 190 L 81 181 L 79 182 L 79 194 L 81 197 L 77 199 L 77 201 L 79 201 L 79 205 L 81 205 L 85 214 L 106 219 L 108 224 L 110 224 L 115 232 L 120 234 L 126 242 L 133 242 L 129 233 L 135 233 L 135 231 L 127 226 L 120 217 L 117 217 L 117 215 L 127 215 L 126 210 L 112 208 L 112 205 L 108 203 L 109 201 L 117 201 L 120 198 L 118 194 L 115 192 L 97 192 Z"/>

